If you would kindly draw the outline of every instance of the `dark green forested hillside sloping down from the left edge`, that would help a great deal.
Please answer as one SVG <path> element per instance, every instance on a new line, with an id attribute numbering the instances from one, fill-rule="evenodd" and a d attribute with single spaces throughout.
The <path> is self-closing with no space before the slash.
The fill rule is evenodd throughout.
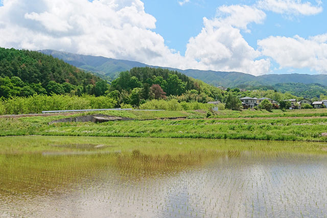
<path id="1" fill-rule="evenodd" d="M 99 77 L 52 56 L 0 47 L 0 96 L 4 98 L 34 93 L 95 94 L 103 84 Z"/>

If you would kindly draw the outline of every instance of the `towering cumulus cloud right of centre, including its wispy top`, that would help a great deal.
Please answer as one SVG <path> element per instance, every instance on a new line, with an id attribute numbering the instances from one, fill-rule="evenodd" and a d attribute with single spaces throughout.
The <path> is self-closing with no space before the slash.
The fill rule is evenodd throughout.
<path id="1" fill-rule="evenodd" d="M 203 18 L 204 27 L 186 46 L 185 57 L 195 59 L 207 69 L 242 71 L 252 75 L 266 74 L 269 59 L 260 59 L 243 38 L 240 29 L 249 32 L 249 23 L 262 23 L 266 14 L 250 6 L 221 6 L 214 19 Z"/>

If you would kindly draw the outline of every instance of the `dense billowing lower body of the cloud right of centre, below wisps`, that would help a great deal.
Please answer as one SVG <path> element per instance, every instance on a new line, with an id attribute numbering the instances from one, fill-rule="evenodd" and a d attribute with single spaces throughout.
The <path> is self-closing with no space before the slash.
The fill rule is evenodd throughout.
<path id="1" fill-rule="evenodd" d="M 259 59 L 255 51 L 243 38 L 239 29 L 217 19 L 204 20 L 201 33 L 190 39 L 185 57 L 195 59 L 206 69 L 243 71 L 252 75 L 266 74 L 269 59 Z"/>

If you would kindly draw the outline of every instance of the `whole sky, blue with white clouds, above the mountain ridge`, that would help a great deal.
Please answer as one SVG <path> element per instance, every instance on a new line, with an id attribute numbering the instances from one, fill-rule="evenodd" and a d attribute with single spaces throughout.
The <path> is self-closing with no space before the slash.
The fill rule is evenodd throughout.
<path id="1" fill-rule="evenodd" d="M 320 0 L 2 0 L 0 46 L 180 69 L 327 74 Z"/>

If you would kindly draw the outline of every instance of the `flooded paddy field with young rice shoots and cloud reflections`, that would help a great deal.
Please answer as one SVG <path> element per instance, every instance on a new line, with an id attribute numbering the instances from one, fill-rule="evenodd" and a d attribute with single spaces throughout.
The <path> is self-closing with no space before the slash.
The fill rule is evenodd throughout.
<path id="1" fill-rule="evenodd" d="M 327 145 L 0 138 L 0 217 L 325 217 Z"/>

